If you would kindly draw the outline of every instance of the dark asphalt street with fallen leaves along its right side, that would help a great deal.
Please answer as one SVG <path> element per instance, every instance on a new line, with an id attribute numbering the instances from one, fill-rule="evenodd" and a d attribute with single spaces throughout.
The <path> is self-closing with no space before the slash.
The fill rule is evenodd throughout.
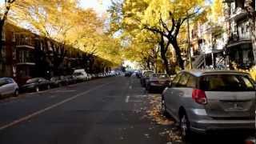
<path id="1" fill-rule="evenodd" d="M 159 100 L 137 78 L 122 76 L 23 94 L 0 102 L 0 144 L 243 143 L 205 136 L 182 142 Z"/>

